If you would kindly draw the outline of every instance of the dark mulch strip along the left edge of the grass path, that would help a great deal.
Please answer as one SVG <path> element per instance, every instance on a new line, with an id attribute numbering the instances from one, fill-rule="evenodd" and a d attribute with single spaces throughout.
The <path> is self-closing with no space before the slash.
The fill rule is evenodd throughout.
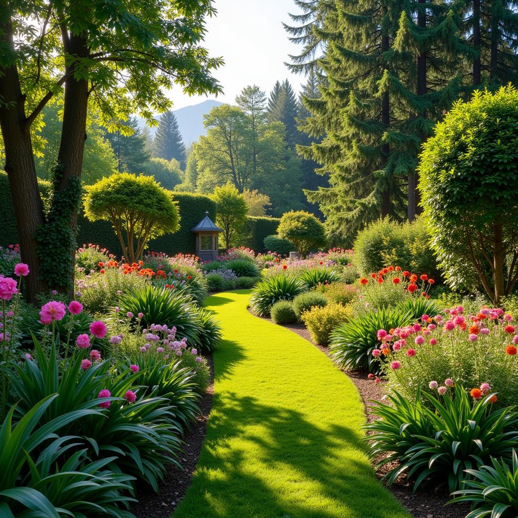
<path id="1" fill-rule="evenodd" d="M 199 402 L 202 415 L 198 417 L 191 429 L 187 430 L 183 441 L 184 452 L 180 455 L 181 468 L 174 464 L 167 466 L 164 481 L 160 484 L 160 492 L 155 493 L 149 486 L 137 488 L 137 500 L 131 507 L 131 512 L 137 518 L 170 518 L 172 511 L 176 509 L 185 496 L 193 477 L 200 451 L 202 451 L 207 420 L 212 407 L 214 394 L 214 366 L 212 356 L 205 355 L 210 367 L 210 386 Z"/>

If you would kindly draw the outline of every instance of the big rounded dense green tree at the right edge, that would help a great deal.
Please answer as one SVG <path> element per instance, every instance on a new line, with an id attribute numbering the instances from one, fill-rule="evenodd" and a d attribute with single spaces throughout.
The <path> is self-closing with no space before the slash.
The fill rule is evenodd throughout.
<path id="1" fill-rule="evenodd" d="M 518 280 L 518 91 L 476 92 L 421 155 L 425 221 L 453 286 L 479 280 L 493 304 Z"/>

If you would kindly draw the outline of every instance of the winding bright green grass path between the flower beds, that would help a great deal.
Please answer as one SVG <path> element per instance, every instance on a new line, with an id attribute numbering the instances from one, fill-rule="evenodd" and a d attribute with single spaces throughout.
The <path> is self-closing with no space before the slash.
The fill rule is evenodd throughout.
<path id="1" fill-rule="evenodd" d="M 369 465 L 356 387 L 312 344 L 251 315 L 248 298 L 207 300 L 225 340 L 198 467 L 174 518 L 409 518 Z"/>

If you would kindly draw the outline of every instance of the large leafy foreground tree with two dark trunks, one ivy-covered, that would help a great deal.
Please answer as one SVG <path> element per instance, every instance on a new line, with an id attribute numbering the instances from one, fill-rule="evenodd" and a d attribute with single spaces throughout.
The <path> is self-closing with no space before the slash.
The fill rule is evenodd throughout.
<path id="1" fill-rule="evenodd" d="M 73 289 L 75 231 L 89 102 L 100 122 L 153 111 L 176 82 L 186 93 L 221 92 L 211 71 L 222 60 L 200 47 L 211 0 L 24 2 L 0 8 L 0 128 L 22 261 L 34 301 L 49 282 Z M 63 125 L 53 196 L 44 213 L 33 157 L 41 110 L 64 90 Z M 56 266 L 59 265 L 59 266 Z"/>

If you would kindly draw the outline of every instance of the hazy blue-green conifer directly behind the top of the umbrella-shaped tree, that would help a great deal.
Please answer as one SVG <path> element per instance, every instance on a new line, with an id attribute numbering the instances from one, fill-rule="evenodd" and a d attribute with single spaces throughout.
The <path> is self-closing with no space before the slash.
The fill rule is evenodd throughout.
<path id="1" fill-rule="evenodd" d="M 119 172 L 139 172 L 150 158 L 146 150 L 146 137 L 140 131 L 136 117 L 121 122 L 113 133 L 107 131 L 106 138 L 117 157 Z"/>

